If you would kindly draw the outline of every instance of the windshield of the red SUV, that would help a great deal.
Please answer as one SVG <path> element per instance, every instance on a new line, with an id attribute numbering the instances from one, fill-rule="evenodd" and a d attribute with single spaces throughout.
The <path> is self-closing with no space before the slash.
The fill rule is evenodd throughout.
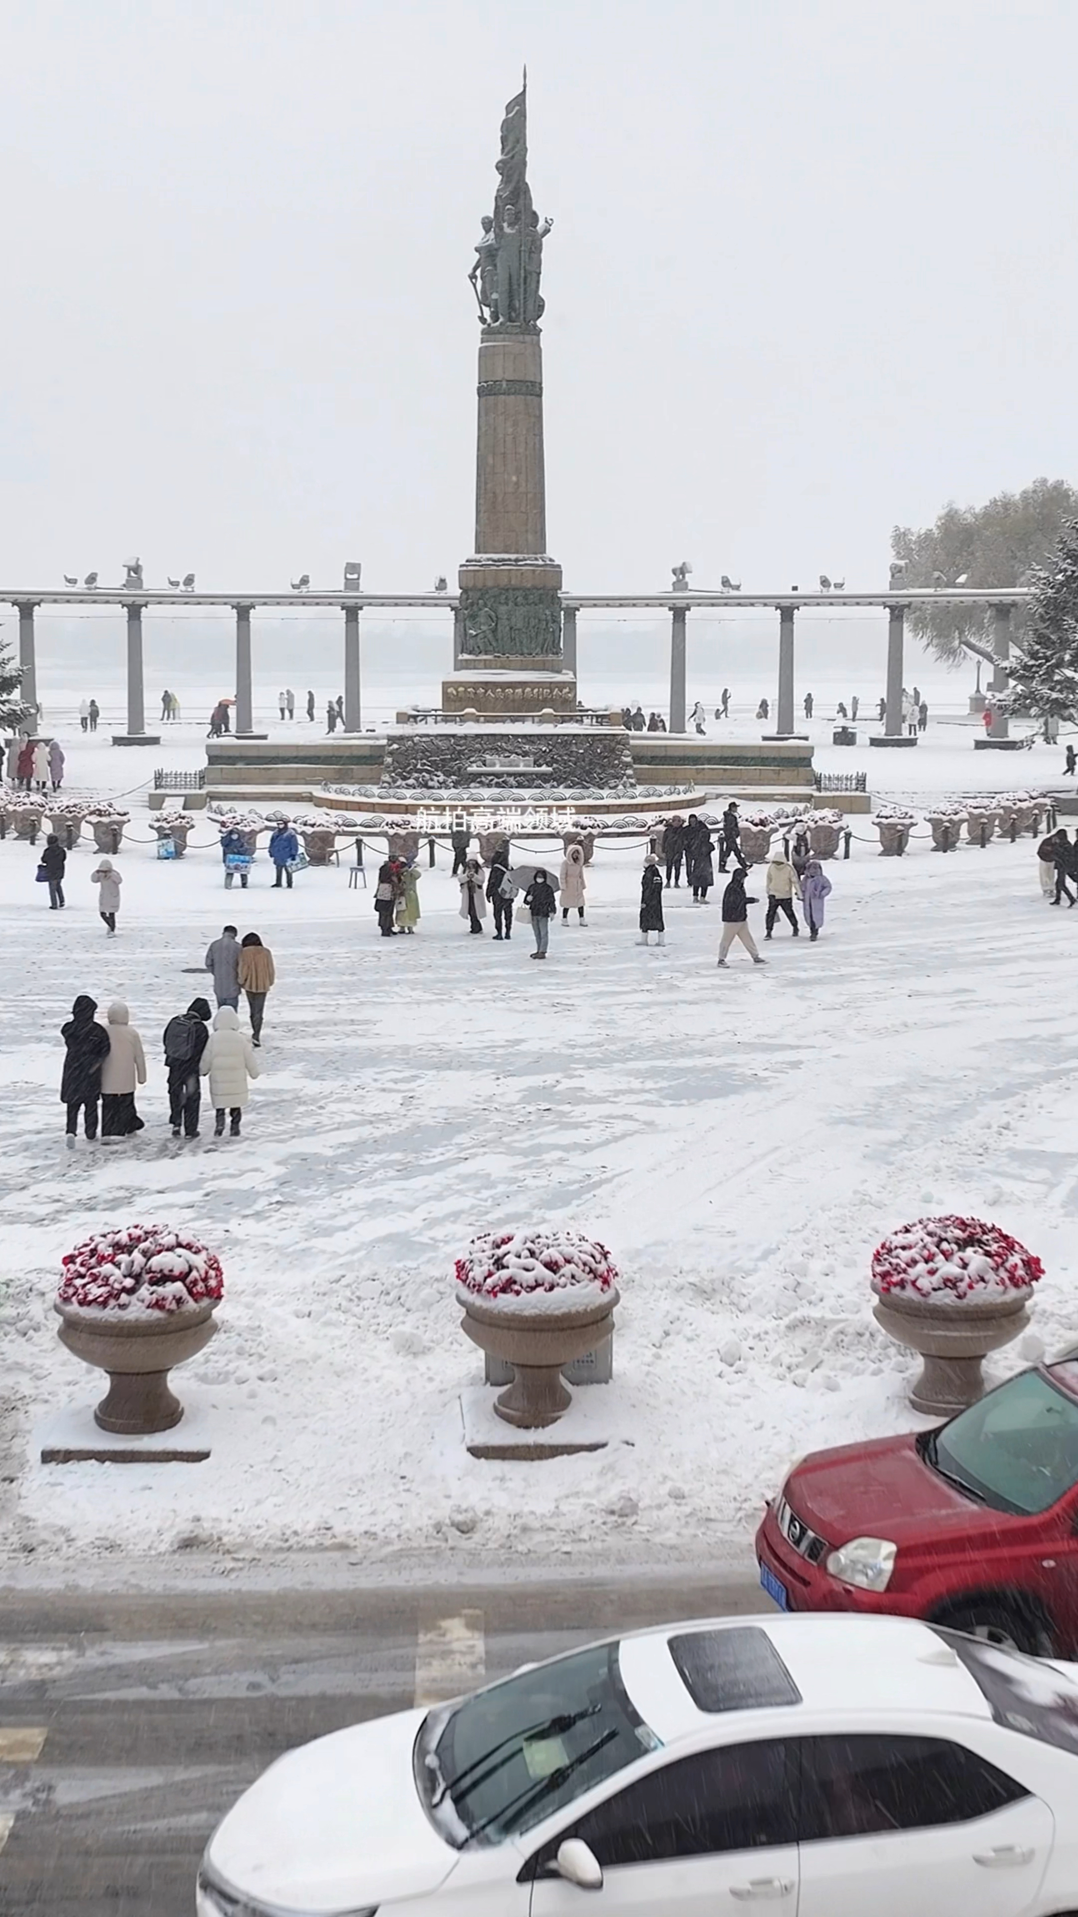
<path id="1" fill-rule="evenodd" d="M 1051 1373 L 1022 1371 L 928 1432 L 921 1455 L 994 1511 L 1032 1516 L 1078 1480 L 1078 1403 Z"/>

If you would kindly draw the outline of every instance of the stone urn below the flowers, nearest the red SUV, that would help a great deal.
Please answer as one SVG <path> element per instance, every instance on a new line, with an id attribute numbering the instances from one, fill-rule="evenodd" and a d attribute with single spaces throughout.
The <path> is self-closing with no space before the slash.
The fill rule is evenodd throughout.
<path id="1" fill-rule="evenodd" d="M 909 1292 L 880 1292 L 873 1279 L 873 1315 L 896 1344 L 925 1359 L 909 1403 L 926 1417 L 948 1419 L 984 1397 L 982 1363 L 990 1351 L 1011 1344 L 1028 1325 L 1032 1288 L 1003 1298 L 917 1298 Z"/>

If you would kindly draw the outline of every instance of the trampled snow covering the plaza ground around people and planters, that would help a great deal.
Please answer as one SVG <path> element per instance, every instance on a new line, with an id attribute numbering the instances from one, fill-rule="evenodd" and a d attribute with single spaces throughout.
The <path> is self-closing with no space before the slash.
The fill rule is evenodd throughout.
<path id="1" fill-rule="evenodd" d="M 967 753 L 965 769 L 999 763 Z M 100 757 L 113 786 L 134 782 L 136 753 Z M 666 951 L 635 945 L 641 849 L 597 851 L 589 924 L 554 926 L 537 966 L 527 924 L 508 947 L 466 934 L 445 853 L 418 935 L 382 941 L 345 870 L 269 891 L 259 859 L 251 889 L 224 893 L 213 849 L 165 865 L 134 843 L 109 941 L 88 845 L 50 914 L 36 855 L 0 843 L 6 1549 L 38 1564 L 178 1541 L 343 1545 L 368 1564 L 748 1549 L 790 1453 L 915 1422 L 869 1258 L 923 1212 L 982 1213 L 1030 1244 L 1047 1267 L 1036 1334 L 1066 1344 L 1078 916 L 1045 907 L 1028 838 L 948 857 L 917 838 L 884 861 L 855 826 L 819 945 L 779 930 L 767 970 L 735 947 L 721 980 L 715 893 L 706 909 L 669 893 Z M 226 918 L 276 957 L 265 1075 L 242 1141 L 175 1146 L 159 1033 Z M 79 991 L 130 1005 L 148 1127 L 65 1154 L 58 1029 Z M 104 1382 L 56 1340 L 59 1258 L 134 1219 L 190 1227 L 224 1263 L 221 1332 L 176 1374 L 213 1407 L 213 1459 L 40 1467 L 35 1424 Z M 457 1397 L 481 1359 L 453 1258 L 474 1231 L 535 1221 L 597 1235 L 621 1265 L 610 1390 L 631 1442 L 478 1463 Z"/>

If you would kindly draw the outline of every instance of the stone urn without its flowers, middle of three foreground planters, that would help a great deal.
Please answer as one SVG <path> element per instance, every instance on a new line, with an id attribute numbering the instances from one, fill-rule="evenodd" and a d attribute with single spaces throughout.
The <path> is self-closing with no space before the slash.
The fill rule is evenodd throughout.
<path id="1" fill-rule="evenodd" d="M 568 1304 L 564 1311 L 527 1311 L 520 1305 L 499 1305 L 497 1300 L 462 1298 L 460 1328 L 491 1357 L 503 1357 L 514 1369 L 514 1380 L 495 1401 L 499 1419 L 526 1430 L 556 1424 L 570 1407 L 572 1396 L 562 1380 L 562 1365 L 585 1351 L 595 1351 L 614 1332 L 614 1286 L 600 1304 Z"/>

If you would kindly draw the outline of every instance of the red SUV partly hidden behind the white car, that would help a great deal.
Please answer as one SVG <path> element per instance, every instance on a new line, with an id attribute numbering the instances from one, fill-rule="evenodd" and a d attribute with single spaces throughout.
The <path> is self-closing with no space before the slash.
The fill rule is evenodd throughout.
<path id="1" fill-rule="evenodd" d="M 813 1451 L 756 1534 L 783 1610 L 890 1610 L 1078 1654 L 1078 1350 L 938 1430 Z"/>

